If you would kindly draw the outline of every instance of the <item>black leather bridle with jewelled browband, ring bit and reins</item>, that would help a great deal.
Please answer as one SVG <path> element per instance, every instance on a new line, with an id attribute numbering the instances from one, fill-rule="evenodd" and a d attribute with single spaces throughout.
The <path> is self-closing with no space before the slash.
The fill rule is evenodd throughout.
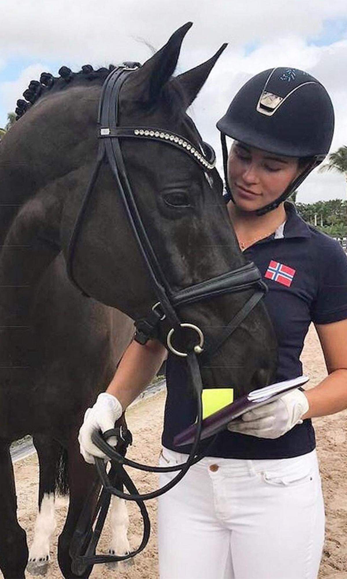
<path id="1" fill-rule="evenodd" d="M 119 561 L 128 559 L 140 552 L 146 545 L 149 538 L 149 517 L 146 511 L 144 500 L 153 499 L 160 496 L 167 490 L 175 486 L 180 479 L 183 478 L 190 466 L 201 460 L 208 452 L 205 450 L 204 455 L 197 455 L 198 445 L 200 443 L 201 423 L 202 423 L 202 382 L 200 368 L 198 364 L 198 357 L 205 356 L 212 357 L 219 349 L 223 342 L 234 332 L 238 325 L 245 319 L 245 317 L 252 311 L 254 306 L 260 301 L 264 293 L 267 291 L 267 286 L 261 280 L 261 275 L 254 263 L 248 263 L 237 270 L 220 274 L 209 280 L 184 288 L 178 292 L 174 292 L 168 283 L 167 278 L 163 272 L 160 263 L 158 262 L 156 253 L 154 252 L 152 243 L 150 242 L 145 227 L 136 206 L 135 198 L 132 193 L 130 182 L 128 181 L 127 171 L 125 169 L 123 155 L 121 153 L 120 140 L 122 138 L 136 138 L 143 140 L 155 140 L 163 142 L 180 149 L 198 163 L 205 172 L 212 171 L 215 167 L 215 153 L 211 146 L 202 142 L 199 145 L 194 145 L 186 138 L 167 131 L 165 129 L 156 129 L 153 127 L 120 127 L 118 125 L 118 109 L 119 109 L 119 93 L 121 86 L 131 71 L 139 68 L 138 63 L 124 63 L 124 65 L 117 67 L 110 72 L 102 87 L 102 93 L 99 102 L 98 112 L 98 127 L 99 127 L 99 147 L 97 155 L 97 163 L 95 165 L 93 174 L 88 184 L 82 205 L 77 215 L 75 225 L 69 240 L 68 255 L 67 255 L 67 273 L 70 280 L 79 288 L 84 295 L 87 295 L 83 289 L 77 284 L 73 277 L 73 256 L 80 228 L 82 226 L 84 213 L 90 199 L 91 193 L 97 180 L 101 164 L 107 160 L 113 176 L 115 177 L 117 192 L 123 200 L 125 212 L 130 222 L 132 232 L 138 244 L 139 251 L 145 262 L 147 272 L 152 281 L 154 292 L 157 296 L 156 303 L 153 304 L 148 316 L 141 320 L 135 321 L 136 333 L 134 339 L 139 343 L 144 344 L 150 339 L 160 324 L 165 319 L 172 327 L 168 333 L 167 346 L 177 356 L 186 358 L 187 371 L 189 373 L 190 382 L 193 386 L 194 393 L 197 398 L 198 408 L 198 428 L 194 443 L 191 447 L 190 455 L 186 463 L 179 464 L 172 467 L 156 467 L 146 466 L 144 464 L 136 463 L 132 460 L 125 459 L 122 453 L 116 452 L 106 440 L 116 435 L 120 441 L 124 442 L 124 455 L 129 438 L 127 431 L 121 431 L 119 428 L 109 430 L 102 436 L 100 433 L 93 434 L 93 442 L 111 461 L 111 470 L 106 472 L 106 466 L 102 459 L 95 459 L 95 464 L 99 477 L 101 479 L 103 489 L 99 496 L 97 509 L 90 520 L 88 508 L 84 508 L 79 522 L 77 523 L 76 531 L 72 539 L 70 554 L 73 559 L 72 569 L 76 574 L 83 574 L 84 570 L 94 563 L 101 563 L 106 561 Z M 204 349 L 204 334 L 200 328 L 188 322 L 182 323 L 176 313 L 176 307 L 195 303 L 205 299 L 211 299 L 213 296 L 227 294 L 230 292 L 245 291 L 254 288 L 254 293 L 246 301 L 245 305 L 232 318 L 231 322 L 223 329 L 217 340 L 212 342 L 210 340 L 208 348 Z M 200 343 L 193 347 L 193 350 L 182 353 L 174 348 L 171 343 L 172 334 L 179 328 L 190 328 L 197 332 Z M 211 444 L 215 438 L 212 439 Z M 131 481 L 129 475 L 124 470 L 124 465 L 138 468 L 139 470 L 149 472 L 172 472 L 180 471 L 167 485 L 156 491 L 139 494 Z M 112 483 L 113 479 L 118 479 L 118 488 Z M 123 492 L 123 485 L 128 489 L 128 493 Z M 97 490 L 92 489 L 94 492 Z M 120 499 L 134 500 L 138 503 L 141 509 L 144 521 L 143 539 L 140 547 L 136 551 L 128 555 L 95 555 L 95 548 L 97 546 L 98 538 L 104 525 L 105 517 L 108 510 L 110 495 L 115 494 Z M 91 525 L 95 521 L 97 514 L 95 530 L 92 532 Z"/>

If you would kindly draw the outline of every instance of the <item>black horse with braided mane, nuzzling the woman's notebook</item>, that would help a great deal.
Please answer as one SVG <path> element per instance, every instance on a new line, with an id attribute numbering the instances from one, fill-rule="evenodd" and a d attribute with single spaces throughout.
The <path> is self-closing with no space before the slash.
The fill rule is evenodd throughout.
<path id="1" fill-rule="evenodd" d="M 127 78 L 120 91 L 120 125 L 161 127 L 199 146 L 186 109 L 220 51 L 172 78 L 189 28 L 176 31 Z M 70 501 L 58 561 L 65 578 L 76 577 L 69 543 L 95 477 L 79 454 L 77 432 L 131 339 L 131 320 L 145 316 L 156 301 L 107 164 L 95 182 L 73 261 L 77 283 L 92 298 L 81 295 L 66 274 L 69 240 L 97 155 L 97 107 L 108 73 L 86 66 L 77 74 L 63 67 L 59 79 L 42 75 L 42 82 L 24 93 L 31 106 L 20 102 L 21 118 L 0 144 L 0 569 L 6 579 L 23 578 L 28 560 L 16 516 L 10 443 L 34 434 L 40 466 L 45 459 L 56 464 L 62 449 L 67 453 Z M 121 149 L 142 221 L 172 288 L 245 264 L 216 171 L 211 178 L 188 155 L 161 142 L 124 139 Z M 213 339 L 252 292 L 182 305 L 178 314 Z M 165 335 L 163 327 L 158 336 L 163 343 Z M 202 379 L 206 386 L 232 380 L 242 394 L 268 384 L 275 364 L 275 336 L 260 303 L 201 368 Z"/>

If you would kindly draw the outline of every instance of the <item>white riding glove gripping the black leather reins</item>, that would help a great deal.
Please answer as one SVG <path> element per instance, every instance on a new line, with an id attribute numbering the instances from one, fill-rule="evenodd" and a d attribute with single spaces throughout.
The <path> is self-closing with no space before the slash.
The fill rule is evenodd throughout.
<path id="1" fill-rule="evenodd" d="M 110 428 L 115 428 L 115 422 L 121 417 L 122 413 L 123 408 L 120 401 L 108 392 L 99 394 L 94 406 L 87 408 L 78 435 L 80 453 L 86 463 L 94 464 L 94 456 L 109 460 L 91 441 L 91 435 L 95 430 L 101 430 L 104 433 Z M 117 437 L 110 437 L 108 444 L 116 446 Z"/>

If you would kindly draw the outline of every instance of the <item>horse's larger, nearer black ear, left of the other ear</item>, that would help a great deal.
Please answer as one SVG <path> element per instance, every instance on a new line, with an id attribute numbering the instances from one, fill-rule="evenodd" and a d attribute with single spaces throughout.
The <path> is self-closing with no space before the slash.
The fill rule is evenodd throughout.
<path id="1" fill-rule="evenodd" d="M 178 28 L 165 46 L 131 75 L 131 85 L 138 87 L 141 100 L 149 103 L 157 100 L 161 89 L 174 74 L 183 38 L 192 25 L 192 22 L 187 22 Z"/>

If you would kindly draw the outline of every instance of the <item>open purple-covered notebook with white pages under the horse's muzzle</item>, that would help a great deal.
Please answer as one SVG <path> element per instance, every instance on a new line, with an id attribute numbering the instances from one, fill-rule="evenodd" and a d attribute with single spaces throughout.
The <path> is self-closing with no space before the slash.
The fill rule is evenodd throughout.
<path id="1" fill-rule="evenodd" d="M 235 400 L 235 402 L 231 402 L 231 404 L 224 406 L 224 408 L 220 409 L 218 412 L 215 412 L 211 414 L 211 416 L 202 420 L 201 440 L 224 430 L 231 420 L 237 419 L 245 412 L 248 412 L 253 408 L 259 408 L 259 406 L 263 406 L 264 404 L 268 404 L 269 402 L 280 398 L 290 390 L 294 390 L 303 384 L 306 384 L 308 380 L 309 378 L 307 376 L 298 376 L 298 378 L 270 384 L 270 386 L 265 386 L 264 388 L 253 390 L 249 394 L 245 394 L 241 398 Z M 196 430 L 197 423 L 191 424 L 191 426 L 182 430 L 181 433 L 176 434 L 174 445 L 182 446 L 194 442 Z"/>

